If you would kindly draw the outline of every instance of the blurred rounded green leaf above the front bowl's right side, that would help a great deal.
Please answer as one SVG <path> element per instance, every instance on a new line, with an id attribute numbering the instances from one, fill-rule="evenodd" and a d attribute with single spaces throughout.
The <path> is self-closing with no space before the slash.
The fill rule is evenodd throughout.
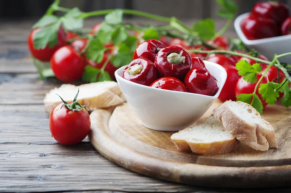
<path id="1" fill-rule="evenodd" d="M 198 36 L 204 40 L 210 40 L 215 35 L 215 23 L 212 19 L 203 19 L 194 23 L 193 30 L 198 33 Z"/>

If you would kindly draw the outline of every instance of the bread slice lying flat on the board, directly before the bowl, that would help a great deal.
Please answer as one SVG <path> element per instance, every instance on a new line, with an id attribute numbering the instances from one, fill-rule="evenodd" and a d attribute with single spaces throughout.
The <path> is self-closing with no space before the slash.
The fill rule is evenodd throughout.
<path id="1" fill-rule="evenodd" d="M 174 133 L 171 139 L 178 149 L 199 154 L 225 154 L 237 147 L 235 137 L 213 116 L 203 123 Z"/>

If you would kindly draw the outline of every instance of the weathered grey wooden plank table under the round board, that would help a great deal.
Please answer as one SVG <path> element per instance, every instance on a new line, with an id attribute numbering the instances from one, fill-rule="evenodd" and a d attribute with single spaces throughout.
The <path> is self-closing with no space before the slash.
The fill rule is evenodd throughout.
<path id="1" fill-rule="evenodd" d="M 38 79 L 26 45 L 32 23 L 0 24 L 0 192 L 266 192 L 162 181 L 106 160 L 88 138 L 78 145 L 56 143 L 42 100 L 61 82 Z"/>

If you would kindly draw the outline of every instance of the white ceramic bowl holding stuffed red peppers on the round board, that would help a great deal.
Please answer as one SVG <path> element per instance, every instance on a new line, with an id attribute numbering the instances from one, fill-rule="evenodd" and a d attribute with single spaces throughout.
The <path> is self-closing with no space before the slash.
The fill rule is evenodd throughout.
<path id="1" fill-rule="evenodd" d="M 117 69 L 115 77 L 142 125 L 154 130 L 177 131 L 194 124 L 210 108 L 225 84 L 225 69 L 219 64 L 204 63 L 217 79 L 219 89 L 214 96 L 157 89 L 131 82 L 122 78 L 126 66 Z"/>

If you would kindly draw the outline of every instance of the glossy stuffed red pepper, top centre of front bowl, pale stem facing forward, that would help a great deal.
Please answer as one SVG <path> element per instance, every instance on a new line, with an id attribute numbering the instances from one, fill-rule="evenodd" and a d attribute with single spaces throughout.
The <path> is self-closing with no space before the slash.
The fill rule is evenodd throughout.
<path id="1" fill-rule="evenodd" d="M 192 58 L 185 49 L 169 46 L 158 52 L 155 65 L 161 77 L 183 79 L 192 67 Z"/>

